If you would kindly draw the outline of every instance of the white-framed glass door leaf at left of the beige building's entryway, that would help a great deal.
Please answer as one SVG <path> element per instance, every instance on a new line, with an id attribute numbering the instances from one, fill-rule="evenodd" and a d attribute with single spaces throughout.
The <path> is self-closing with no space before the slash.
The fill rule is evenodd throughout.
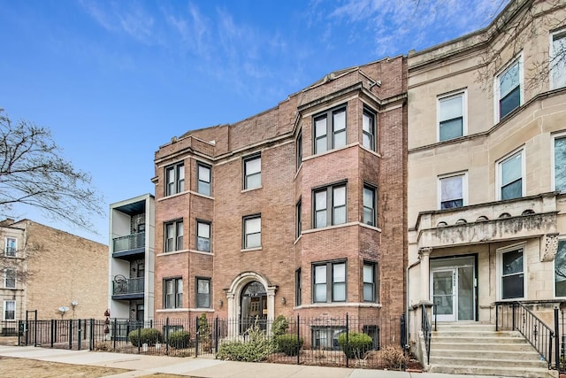
<path id="1" fill-rule="evenodd" d="M 432 272 L 432 312 L 439 321 L 455 321 L 455 269 Z"/>

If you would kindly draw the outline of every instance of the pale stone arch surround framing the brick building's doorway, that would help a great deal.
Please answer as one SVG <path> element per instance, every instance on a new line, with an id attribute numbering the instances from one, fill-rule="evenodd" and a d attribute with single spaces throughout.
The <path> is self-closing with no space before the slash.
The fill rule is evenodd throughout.
<path id="1" fill-rule="evenodd" d="M 241 294 L 243 289 L 245 289 L 250 282 L 254 281 L 264 285 L 267 295 L 267 323 L 271 324 L 275 318 L 275 292 L 277 291 L 277 286 L 272 285 L 262 274 L 257 274 L 256 272 L 238 274 L 230 284 L 230 288 L 226 291 L 226 298 L 228 300 L 228 321 L 230 324 L 233 324 L 233 327 L 228 328 L 229 336 L 237 336 L 239 334 Z M 269 330 L 270 328 L 268 327 L 267 329 Z"/>

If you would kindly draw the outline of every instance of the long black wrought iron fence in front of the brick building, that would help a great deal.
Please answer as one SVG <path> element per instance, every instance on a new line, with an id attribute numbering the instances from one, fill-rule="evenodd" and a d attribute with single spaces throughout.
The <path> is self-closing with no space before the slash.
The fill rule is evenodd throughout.
<path id="1" fill-rule="evenodd" d="M 407 361 L 403 317 L 22 320 L 19 327 L 20 344 L 53 348 L 238 359 L 231 346 L 253 348 L 261 338 L 268 348 L 260 360 L 268 362 L 402 368 Z"/>

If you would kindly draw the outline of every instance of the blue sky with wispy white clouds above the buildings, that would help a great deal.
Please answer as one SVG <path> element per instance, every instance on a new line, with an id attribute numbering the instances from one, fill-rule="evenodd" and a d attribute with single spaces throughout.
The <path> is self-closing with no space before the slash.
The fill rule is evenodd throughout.
<path id="1" fill-rule="evenodd" d="M 154 153 L 172 136 L 486 27 L 507 2 L 0 0 L 0 108 L 49 127 L 107 212 L 154 192 Z M 97 234 L 24 207 L 10 215 L 108 243 L 107 214 Z"/>

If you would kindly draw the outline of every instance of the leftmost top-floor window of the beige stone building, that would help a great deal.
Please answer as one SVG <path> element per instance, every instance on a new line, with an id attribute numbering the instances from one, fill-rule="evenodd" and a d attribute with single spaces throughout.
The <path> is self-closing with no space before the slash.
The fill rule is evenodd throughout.
<path id="1" fill-rule="evenodd" d="M 464 133 L 464 93 L 439 98 L 439 141 L 447 141 Z"/>

